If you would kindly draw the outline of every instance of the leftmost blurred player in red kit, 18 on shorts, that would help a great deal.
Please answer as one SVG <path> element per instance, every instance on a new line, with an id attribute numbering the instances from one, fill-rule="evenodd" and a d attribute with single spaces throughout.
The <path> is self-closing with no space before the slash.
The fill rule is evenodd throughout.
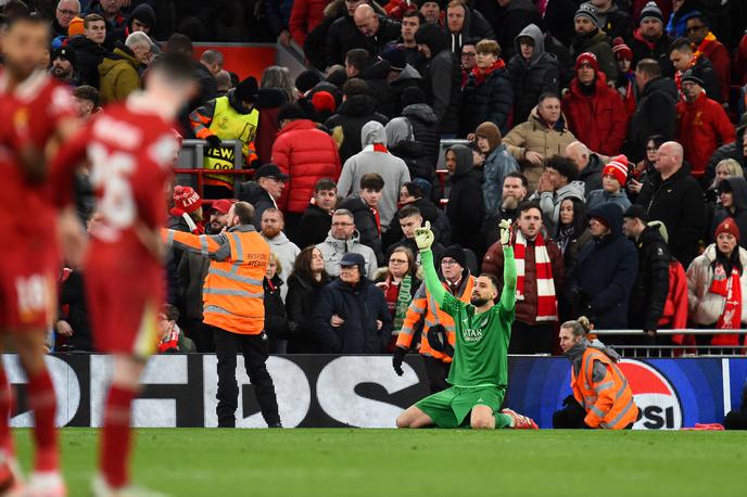
<path id="1" fill-rule="evenodd" d="M 55 317 L 60 269 L 54 232 L 58 212 L 49 202 L 53 183 L 46 150 L 77 127 L 72 97 L 50 77 L 43 59 L 49 23 L 17 17 L 3 34 L 0 73 L 0 332 L 10 336 L 28 378 L 34 410 L 34 473 L 24 495 L 64 496 L 54 428 L 56 402 L 45 364 L 47 330 Z M 72 186 L 71 186 L 72 188 Z M 65 213 L 67 233 L 74 211 Z M 80 233 L 77 228 L 78 234 Z M 69 240 L 68 240 L 69 241 Z M 0 492 L 22 490 L 9 429 L 11 390 L 0 365 Z"/>

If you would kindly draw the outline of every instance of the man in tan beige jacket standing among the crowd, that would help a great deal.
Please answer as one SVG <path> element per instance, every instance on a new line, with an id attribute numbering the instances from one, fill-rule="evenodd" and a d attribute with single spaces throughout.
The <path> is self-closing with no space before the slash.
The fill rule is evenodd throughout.
<path id="1" fill-rule="evenodd" d="M 530 192 L 536 190 L 543 162 L 565 154 L 566 148 L 574 141 L 560 111 L 560 99 L 555 93 L 541 94 L 529 119 L 514 127 L 503 139 L 508 152 L 522 164 Z"/>

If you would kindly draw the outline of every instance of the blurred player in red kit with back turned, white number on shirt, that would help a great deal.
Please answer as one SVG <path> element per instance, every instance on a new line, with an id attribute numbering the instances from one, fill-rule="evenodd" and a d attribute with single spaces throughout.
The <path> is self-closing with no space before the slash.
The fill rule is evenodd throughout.
<path id="1" fill-rule="evenodd" d="M 94 117 L 61 148 L 52 165 L 58 184 L 64 186 L 88 161 L 102 215 L 91 230 L 85 264 L 93 343 L 114 356 L 96 496 L 140 495 L 128 477 L 130 411 L 140 373 L 157 344 L 165 292 L 160 229 L 179 146 L 174 118 L 195 91 L 189 60 L 163 55 L 149 69 L 143 92 Z M 59 201 L 67 207 L 73 203 L 71 196 Z"/>

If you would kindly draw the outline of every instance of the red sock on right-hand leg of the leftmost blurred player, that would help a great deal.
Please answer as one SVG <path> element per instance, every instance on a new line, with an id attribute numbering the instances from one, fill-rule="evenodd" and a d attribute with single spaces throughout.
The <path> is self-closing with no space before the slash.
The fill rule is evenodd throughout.
<path id="1" fill-rule="evenodd" d="M 28 378 L 28 404 L 34 410 L 35 470 L 56 471 L 60 464 L 58 432 L 54 428 L 56 399 L 49 372 L 45 369 Z"/>

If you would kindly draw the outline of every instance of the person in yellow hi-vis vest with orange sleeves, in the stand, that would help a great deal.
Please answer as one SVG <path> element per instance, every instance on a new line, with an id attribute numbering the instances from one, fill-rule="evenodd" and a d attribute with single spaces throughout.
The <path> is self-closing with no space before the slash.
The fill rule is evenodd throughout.
<path id="1" fill-rule="evenodd" d="M 254 104 L 257 97 L 256 79 L 249 77 L 226 97 L 213 99 L 189 115 L 194 136 L 207 141 L 208 144 L 204 163 L 206 169 L 233 169 L 235 148 L 223 145 L 224 140 L 241 142 L 242 162 L 245 166 L 252 165 L 256 160 L 254 138 L 259 122 L 259 111 L 254 109 Z M 235 196 L 233 176 L 210 174 L 204 176 L 204 181 L 205 196 L 212 199 Z M 257 216 L 261 214 L 257 213 Z"/>

